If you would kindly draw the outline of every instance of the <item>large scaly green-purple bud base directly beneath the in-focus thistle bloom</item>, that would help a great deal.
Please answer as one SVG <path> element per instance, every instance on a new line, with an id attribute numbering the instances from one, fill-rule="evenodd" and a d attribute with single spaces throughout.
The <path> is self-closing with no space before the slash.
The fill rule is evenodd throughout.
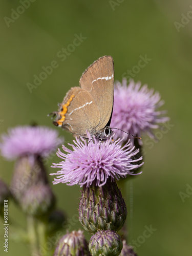
<path id="1" fill-rule="evenodd" d="M 91 233 L 98 230 L 118 231 L 126 220 L 126 205 L 115 181 L 109 179 L 103 186 L 83 186 L 79 220 Z"/>

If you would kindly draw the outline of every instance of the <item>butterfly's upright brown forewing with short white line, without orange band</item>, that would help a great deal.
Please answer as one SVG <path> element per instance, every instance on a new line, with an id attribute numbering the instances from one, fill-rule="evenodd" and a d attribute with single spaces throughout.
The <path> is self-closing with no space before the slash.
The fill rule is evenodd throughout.
<path id="1" fill-rule="evenodd" d="M 100 113 L 96 126 L 99 131 L 109 124 L 113 110 L 114 97 L 114 63 L 111 56 L 96 60 L 81 76 L 80 87 L 89 92 Z M 93 112 L 94 113 L 94 112 Z M 92 114 L 93 115 L 93 114 Z M 95 117 L 95 114 L 94 114 Z M 96 122 L 95 122 L 96 124 Z"/>

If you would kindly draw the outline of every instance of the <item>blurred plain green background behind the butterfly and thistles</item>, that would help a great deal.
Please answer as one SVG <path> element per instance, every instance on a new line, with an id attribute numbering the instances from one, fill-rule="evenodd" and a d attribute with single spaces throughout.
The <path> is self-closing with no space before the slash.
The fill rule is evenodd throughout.
<path id="1" fill-rule="evenodd" d="M 16 10 L 22 12 L 18 8 L 21 3 L 1 1 L 1 134 L 9 127 L 37 122 L 53 127 L 65 136 L 66 143 L 71 142 L 72 135 L 54 127 L 47 114 L 57 110 L 57 103 L 71 87 L 78 86 L 82 72 L 99 57 L 111 55 L 115 79 L 121 80 L 126 70 L 138 65 L 140 55 L 146 55 L 151 61 L 133 78 L 160 92 L 165 100 L 162 109 L 168 111 L 171 126 L 166 134 L 161 134 L 158 143 L 153 142 L 151 147 L 144 145 L 143 173 L 127 183 L 130 242 L 143 236 L 145 226 L 152 225 L 157 230 L 139 243 L 138 255 L 191 255 L 192 195 L 189 194 L 192 191 L 188 191 L 184 200 L 180 193 L 186 193 L 186 184 L 192 186 L 189 157 L 192 2 L 37 0 L 28 3 L 30 6 L 23 13 L 12 14 Z M 73 49 L 69 45 L 76 34 L 82 35 L 83 40 Z M 58 52 L 68 47 L 73 51 L 65 59 L 59 57 Z M 30 92 L 26 84 L 33 83 L 34 75 L 39 76 L 42 67 L 50 66 L 54 60 L 57 68 Z M 10 183 L 14 163 L 2 157 L 0 160 L 0 178 Z M 52 162 L 58 159 L 50 159 L 46 166 L 49 173 L 53 172 Z M 80 188 L 65 184 L 52 187 L 59 207 L 69 216 L 78 214 Z M 133 206 L 130 206 L 132 190 Z M 25 227 L 24 216 L 13 203 L 9 214 Z M 79 227 L 75 222 L 72 228 Z M 2 229 L 1 225 L 1 241 Z M 2 251 L 1 244 L 1 254 Z M 30 255 L 27 245 L 10 240 L 8 254 Z"/>

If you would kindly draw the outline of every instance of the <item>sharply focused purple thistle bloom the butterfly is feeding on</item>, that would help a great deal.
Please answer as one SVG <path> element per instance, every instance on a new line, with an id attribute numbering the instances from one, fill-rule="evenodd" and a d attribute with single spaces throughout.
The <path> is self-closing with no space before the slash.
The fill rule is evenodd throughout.
<path id="1" fill-rule="evenodd" d="M 88 134 L 89 139 L 91 139 Z M 89 187 L 95 181 L 96 186 L 102 186 L 106 183 L 108 178 L 118 180 L 120 177 L 129 175 L 136 175 L 132 172 L 141 164 L 133 164 L 139 159 L 133 160 L 131 157 L 135 156 L 139 150 L 131 146 L 128 141 L 122 148 L 122 140 L 117 140 L 110 143 L 111 139 L 100 142 L 95 138 L 89 143 L 84 139 L 76 138 L 73 141 L 75 145 L 71 145 L 73 151 L 62 145 L 62 150 L 67 152 L 62 153 L 59 149 L 57 156 L 63 159 L 60 163 L 53 163 L 53 168 L 61 168 L 57 173 L 50 175 L 57 175 L 53 183 L 68 183 L 68 185 L 78 184 L 80 186 L 86 185 Z M 140 173 L 138 173 L 140 174 Z"/>

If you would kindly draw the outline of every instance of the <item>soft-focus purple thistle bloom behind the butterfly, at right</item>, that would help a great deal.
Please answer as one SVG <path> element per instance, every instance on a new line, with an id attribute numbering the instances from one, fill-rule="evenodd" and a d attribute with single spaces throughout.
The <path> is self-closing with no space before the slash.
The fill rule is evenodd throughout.
<path id="1" fill-rule="evenodd" d="M 117 81 L 111 127 L 119 128 L 138 137 L 141 137 L 141 132 L 143 132 L 155 138 L 152 129 L 159 128 L 158 123 L 169 120 L 168 117 L 162 116 L 165 111 L 157 111 L 164 104 L 160 98 L 160 94 L 154 93 L 153 89 L 148 89 L 146 84 L 141 87 L 140 82 L 134 83 L 132 80 L 127 86 L 125 78 L 122 80 L 122 85 Z M 127 140 L 129 135 L 117 130 L 115 138 L 122 137 Z M 134 140 L 131 136 L 129 138 Z M 142 141 L 139 140 L 139 143 Z"/>

